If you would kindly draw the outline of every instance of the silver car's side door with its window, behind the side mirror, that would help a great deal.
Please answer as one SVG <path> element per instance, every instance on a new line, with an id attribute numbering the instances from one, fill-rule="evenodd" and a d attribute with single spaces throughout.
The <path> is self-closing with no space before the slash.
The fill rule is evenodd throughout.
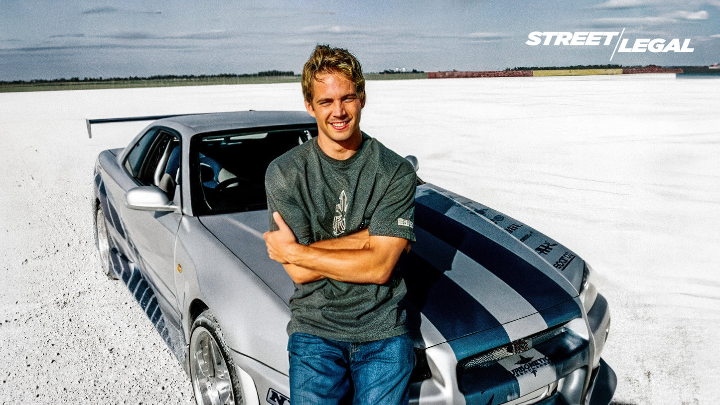
<path id="1" fill-rule="evenodd" d="M 168 128 L 153 128 L 130 150 L 122 164 L 130 182 L 122 191 L 132 187 L 155 186 L 168 194 L 168 199 L 181 206 L 181 193 L 176 186 L 180 178 L 180 137 Z M 142 211 L 120 205 L 120 217 L 125 224 L 129 245 L 135 250 L 136 265 L 156 293 L 166 319 L 179 325 L 179 310 L 175 291 L 174 258 L 177 229 L 182 214 L 174 211 Z"/>

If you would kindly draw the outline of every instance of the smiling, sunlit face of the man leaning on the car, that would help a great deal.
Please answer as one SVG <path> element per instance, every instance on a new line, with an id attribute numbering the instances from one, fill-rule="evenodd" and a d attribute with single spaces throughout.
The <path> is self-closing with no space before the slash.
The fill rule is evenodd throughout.
<path id="1" fill-rule="evenodd" d="M 360 111 L 365 105 L 354 83 L 338 73 L 320 73 L 312 81 L 307 112 L 318 121 L 318 146 L 326 155 L 344 160 L 362 143 Z"/>

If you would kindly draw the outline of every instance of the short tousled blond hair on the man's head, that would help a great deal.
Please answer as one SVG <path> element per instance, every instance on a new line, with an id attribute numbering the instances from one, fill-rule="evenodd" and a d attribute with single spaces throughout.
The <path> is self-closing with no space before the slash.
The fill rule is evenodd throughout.
<path id="1" fill-rule="evenodd" d="M 312 104 L 312 81 L 321 73 L 338 73 L 355 84 L 358 99 L 365 102 L 365 78 L 360 62 L 348 50 L 318 45 L 302 68 L 302 96 Z"/>

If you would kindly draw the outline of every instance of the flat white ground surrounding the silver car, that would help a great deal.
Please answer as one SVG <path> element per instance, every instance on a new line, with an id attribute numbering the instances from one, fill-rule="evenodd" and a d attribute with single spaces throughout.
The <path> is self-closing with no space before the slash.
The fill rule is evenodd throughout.
<path id="1" fill-rule="evenodd" d="M 615 404 L 718 404 L 720 80 L 673 75 L 368 83 L 362 127 L 420 177 L 595 268 Z M 91 173 L 144 123 L 302 109 L 293 84 L 0 94 L 0 403 L 192 403 L 122 283 L 99 273 Z"/>

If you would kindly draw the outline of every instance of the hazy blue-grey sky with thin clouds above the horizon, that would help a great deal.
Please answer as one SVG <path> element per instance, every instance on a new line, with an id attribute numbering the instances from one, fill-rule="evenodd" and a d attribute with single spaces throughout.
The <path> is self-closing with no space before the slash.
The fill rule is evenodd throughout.
<path id="1" fill-rule="evenodd" d="M 531 32 L 622 36 L 527 45 Z M 693 51 L 622 53 L 621 39 L 689 39 Z M 0 0 L 0 81 L 300 73 L 317 44 L 351 50 L 366 72 L 710 65 L 720 0 Z"/>

